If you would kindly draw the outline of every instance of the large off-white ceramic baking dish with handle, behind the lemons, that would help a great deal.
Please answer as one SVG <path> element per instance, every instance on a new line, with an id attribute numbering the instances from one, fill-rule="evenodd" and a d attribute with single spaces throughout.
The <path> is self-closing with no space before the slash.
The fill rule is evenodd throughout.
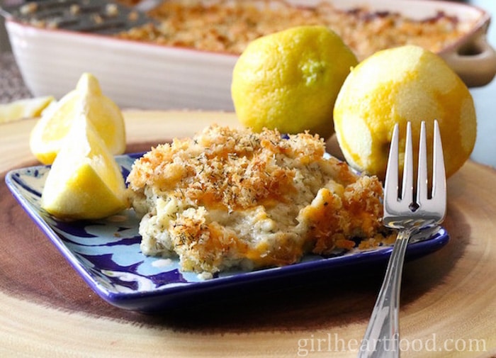
<path id="1" fill-rule="evenodd" d="M 291 0 L 312 5 L 320 0 Z M 475 25 L 439 55 L 468 86 L 483 86 L 496 73 L 496 53 L 487 43 L 490 15 L 474 6 L 425 0 L 332 0 L 342 9 L 368 5 L 429 18 L 441 10 Z M 196 108 L 232 111 L 230 84 L 237 56 L 120 40 L 104 35 L 36 28 L 12 19 L 6 28 L 26 85 L 34 96 L 60 98 L 91 72 L 105 94 L 123 108 Z"/>

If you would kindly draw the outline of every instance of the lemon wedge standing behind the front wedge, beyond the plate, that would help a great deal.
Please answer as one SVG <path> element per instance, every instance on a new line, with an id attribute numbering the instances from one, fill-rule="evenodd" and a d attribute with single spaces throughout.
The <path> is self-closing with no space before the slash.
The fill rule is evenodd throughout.
<path id="1" fill-rule="evenodd" d="M 98 79 L 81 75 L 76 89 L 47 108 L 30 134 L 30 150 L 43 164 L 51 164 L 75 118 L 84 115 L 113 154 L 125 150 L 125 126 L 120 108 L 102 94 Z"/>

